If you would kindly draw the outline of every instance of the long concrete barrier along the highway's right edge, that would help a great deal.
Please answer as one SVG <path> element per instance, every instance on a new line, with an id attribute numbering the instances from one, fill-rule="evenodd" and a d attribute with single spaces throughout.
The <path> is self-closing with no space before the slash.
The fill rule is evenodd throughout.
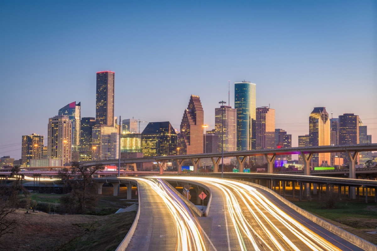
<path id="1" fill-rule="evenodd" d="M 232 180 L 232 181 L 234 181 L 234 180 Z M 248 182 L 248 181 L 239 181 L 239 182 L 247 184 L 249 186 L 258 187 L 260 189 L 263 189 L 263 190 L 271 193 L 271 195 L 274 195 L 277 199 L 282 201 L 284 204 L 288 205 L 288 207 L 297 211 L 297 213 L 299 213 L 302 216 L 310 219 L 311 221 L 315 222 L 316 224 L 320 225 L 321 227 L 333 232 L 334 234 L 342 237 L 343 239 L 348 240 L 349 242 L 351 242 L 355 246 L 358 246 L 359 248 L 362 248 L 362 249 L 367 250 L 367 251 L 377 251 L 377 246 L 374 245 L 373 243 L 370 243 L 370 242 L 368 242 L 368 241 L 366 241 L 366 240 L 364 240 L 364 239 L 362 239 L 362 238 L 360 238 L 360 237 L 358 237 L 354 234 L 351 234 L 351 233 L 343 230 L 342 228 L 334 226 L 333 224 L 331 224 L 327 221 L 324 221 L 323 219 L 315 216 L 314 214 L 311 214 L 308 211 L 305 211 L 302 208 L 297 207 L 295 204 L 288 201 L 287 199 L 284 199 L 282 196 L 277 194 L 275 191 L 268 189 L 267 187 L 264 187 L 264 186 L 261 186 L 261 185 L 255 184 L 255 183 L 251 183 L 251 182 Z"/>

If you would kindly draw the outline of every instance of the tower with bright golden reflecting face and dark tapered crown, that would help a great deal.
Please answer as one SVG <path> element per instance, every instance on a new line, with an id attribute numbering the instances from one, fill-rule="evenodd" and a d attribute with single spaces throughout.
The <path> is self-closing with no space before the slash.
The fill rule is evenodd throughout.
<path id="1" fill-rule="evenodd" d="M 314 107 L 309 116 L 309 146 L 330 145 L 330 120 L 326 107 Z M 331 164 L 330 153 L 313 155 L 313 166 L 328 166 Z"/>

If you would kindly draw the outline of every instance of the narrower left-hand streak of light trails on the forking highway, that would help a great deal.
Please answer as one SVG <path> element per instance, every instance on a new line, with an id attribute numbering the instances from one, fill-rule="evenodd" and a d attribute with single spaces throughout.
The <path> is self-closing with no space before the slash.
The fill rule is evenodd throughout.
<path id="1" fill-rule="evenodd" d="M 190 208 L 161 179 L 132 178 L 147 183 L 164 201 L 173 216 L 178 240 L 176 250 L 205 251 L 205 243 L 198 221 Z"/>

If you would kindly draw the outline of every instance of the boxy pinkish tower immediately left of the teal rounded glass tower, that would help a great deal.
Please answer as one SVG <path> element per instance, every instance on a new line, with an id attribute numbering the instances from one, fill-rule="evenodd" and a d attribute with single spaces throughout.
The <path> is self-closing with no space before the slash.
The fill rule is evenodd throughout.
<path id="1" fill-rule="evenodd" d="M 221 151 L 221 145 L 224 146 L 224 152 L 237 151 L 236 109 L 232 109 L 231 106 L 225 105 L 215 108 L 215 135 L 219 138 L 219 151 Z M 221 135 L 223 135 L 223 143 L 221 141 Z"/>

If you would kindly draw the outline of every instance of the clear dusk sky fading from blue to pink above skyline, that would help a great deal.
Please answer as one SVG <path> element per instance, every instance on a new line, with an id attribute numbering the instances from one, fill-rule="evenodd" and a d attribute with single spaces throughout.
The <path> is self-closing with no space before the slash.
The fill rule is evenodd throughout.
<path id="1" fill-rule="evenodd" d="M 256 84 L 275 127 L 308 134 L 309 115 L 359 115 L 377 143 L 377 1 L 0 0 L 0 156 L 44 135 L 71 102 L 95 117 L 96 72 L 115 71 L 115 116 L 170 121 L 190 95 L 214 128 L 234 83 Z M 330 115 L 331 117 L 331 115 Z"/>

